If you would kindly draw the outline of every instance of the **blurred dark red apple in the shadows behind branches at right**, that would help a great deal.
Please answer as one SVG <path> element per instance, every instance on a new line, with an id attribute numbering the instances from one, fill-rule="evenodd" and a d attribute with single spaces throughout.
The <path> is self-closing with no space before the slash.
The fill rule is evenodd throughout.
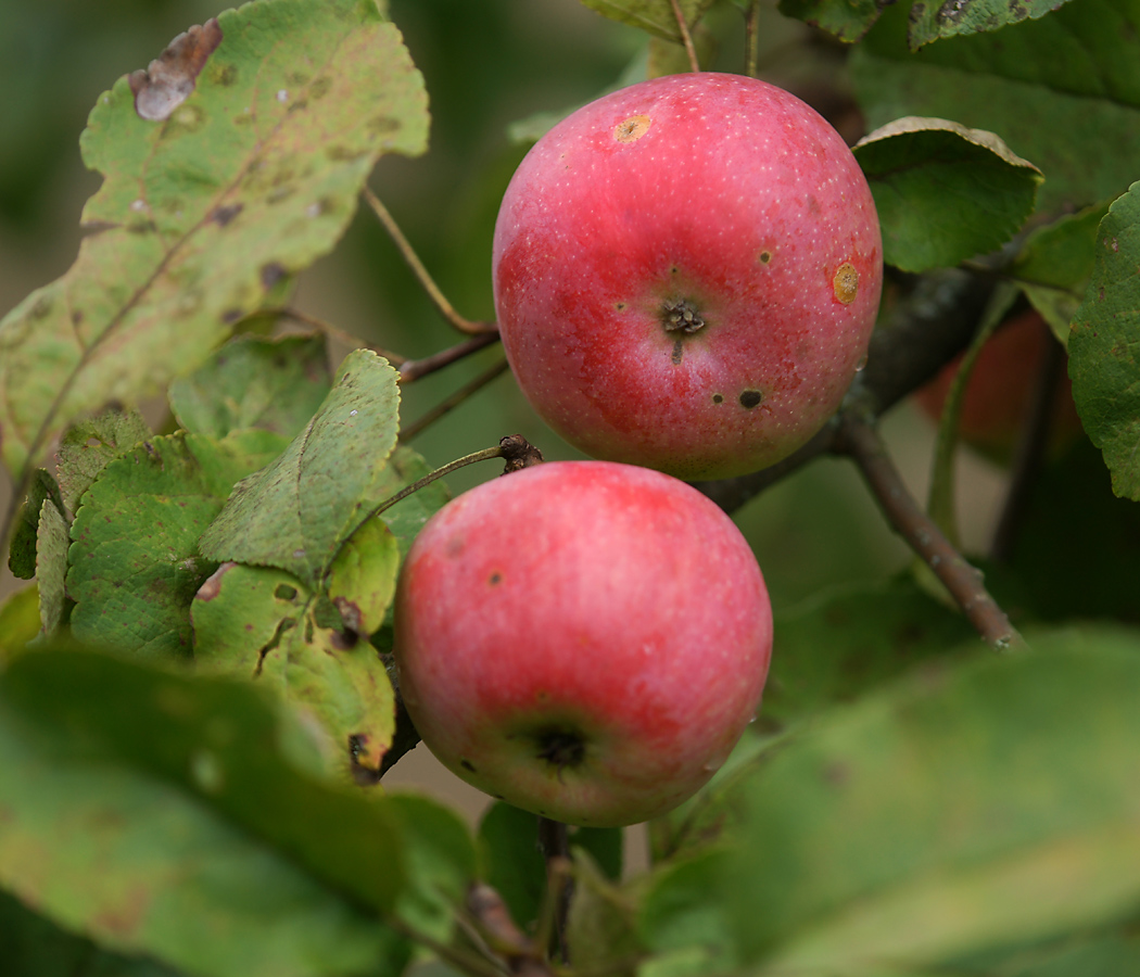
<path id="1" fill-rule="evenodd" d="M 1041 315 L 1028 309 L 1002 323 L 978 353 L 959 415 L 959 437 L 979 454 L 1008 464 L 1031 409 L 1037 371 L 1049 343 L 1057 342 Z M 962 357 L 946 364 L 914 398 L 934 421 L 942 417 Z M 1073 404 L 1073 383 L 1057 377 L 1049 450 L 1062 451 L 1082 433 Z"/>

